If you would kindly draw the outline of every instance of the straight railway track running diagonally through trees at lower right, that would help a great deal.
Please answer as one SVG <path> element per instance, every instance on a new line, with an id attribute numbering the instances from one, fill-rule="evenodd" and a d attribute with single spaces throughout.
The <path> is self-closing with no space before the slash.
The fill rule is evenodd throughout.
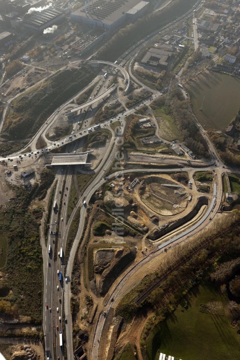
<path id="1" fill-rule="evenodd" d="M 159 287 L 159 285 L 161 283 L 163 283 L 168 276 L 173 273 L 173 271 L 177 271 L 181 266 L 185 265 L 186 262 L 188 262 L 189 260 L 191 260 L 192 257 L 194 257 L 199 251 L 207 248 L 209 246 L 209 244 L 213 243 L 213 241 L 219 237 L 222 237 L 223 235 L 226 235 L 227 233 L 229 233 L 233 228 L 235 228 L 237 226 L 237 223 L 235 223 L 232 226 L 229 226 L 228 228 L 224 229 L 223 231 L 217 233 L 216 235 L 210 237 L 208 240 L 204 240 L 200 246 L 196 247 L 195 249 L 192 250 L 191 255 L 185 257 L 183 260 L 179 261 L 175 266 L 173 266 L 172 268 L 170 268 L 170 270 L 168 270 L 168 272 L 166 274 L 164 274 L 163 276 L 161 276 L 161 278 L 157 279 L 146 291 L 142 292 L 141 294 L 139 294 L 136 298 L 135 298 L 135 304 L 139 305 L 143 300 L 146 299 L 146 297 L 148 295 L 151 294 L 151 292 L 153 290 L 155 290 L 157 287 Z"/>

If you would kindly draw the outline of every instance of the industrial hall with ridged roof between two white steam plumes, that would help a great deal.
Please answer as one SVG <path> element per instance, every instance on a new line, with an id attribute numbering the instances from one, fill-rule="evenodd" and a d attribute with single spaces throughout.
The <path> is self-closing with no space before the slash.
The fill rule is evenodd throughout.
<path id="1" fill-rule="evenodd" d="M 64 10 L 48 8 L 42 10 L 41 12 L 33 11 L 30 14 L 26 14 L 22 24 L 27 28 L 41 31 L 55 24 L 64 17 Z"/>

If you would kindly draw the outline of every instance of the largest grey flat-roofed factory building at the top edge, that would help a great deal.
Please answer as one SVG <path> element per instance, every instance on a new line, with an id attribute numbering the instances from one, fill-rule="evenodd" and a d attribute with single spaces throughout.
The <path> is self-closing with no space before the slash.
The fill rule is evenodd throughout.
<path id="1" fill-rule="evenodd" d="M 148 1 L 139 0 L 95 0 L 85 2 L 85 6 L 74 11 L 72 21 L 93 25 L 95 28 L 115 30 L 124 21 L 134 22 L 144 14 L 149 6 Z"/>

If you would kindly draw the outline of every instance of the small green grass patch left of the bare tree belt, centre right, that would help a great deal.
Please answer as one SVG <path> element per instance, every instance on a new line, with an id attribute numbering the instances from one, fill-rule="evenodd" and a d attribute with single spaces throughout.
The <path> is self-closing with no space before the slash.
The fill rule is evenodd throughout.
<path id="1" fill-rule="evenodd" d="M 159 136 L 168 141 L 175 139 L 182 140 L 182 136 L 178 131 L 177 126 L 173 122 L 173 119 L 166 112 L 164 107 L 154 110 L 154 115 L 159 124 Z"/>

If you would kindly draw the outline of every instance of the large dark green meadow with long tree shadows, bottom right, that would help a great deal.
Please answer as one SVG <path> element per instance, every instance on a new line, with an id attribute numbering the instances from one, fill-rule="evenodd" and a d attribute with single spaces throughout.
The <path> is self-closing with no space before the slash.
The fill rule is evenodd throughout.
<path id="1" fill-rule="evenodd" d="M 161 351 L 184 360 L 238 360 L 240 341 L 227 316 L 227 296 L 214 285 L 203 284 L 192 289 L 187 300 L 187 310 L 179 305 L 155 327 L 147 342 L 147 359 L 158 360 Z M 225 315 L 199 311 L 200 304 L 210 301 L 221 302 Z"/>

